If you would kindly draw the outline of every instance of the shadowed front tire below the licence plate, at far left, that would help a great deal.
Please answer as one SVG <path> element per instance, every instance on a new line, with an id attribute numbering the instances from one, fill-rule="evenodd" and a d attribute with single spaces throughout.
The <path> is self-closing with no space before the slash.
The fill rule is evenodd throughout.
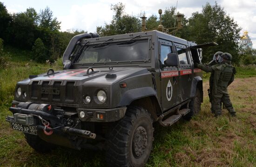
<path id="1" fill-rule="evenodd" d="M 34 148 L 34 150 L 39 152 L 39 153 L 49 153 L 54 148 L 57 148 L 56 145 L 42 140 L 37 135 L 30 135 L 30 134 L 27 134 L 27 133 L 24 133 L 24 135 L 25 135 L 25 138 L 26 138 L 26 141 L 27 141 L 28 145 L 30 147 Z"/>

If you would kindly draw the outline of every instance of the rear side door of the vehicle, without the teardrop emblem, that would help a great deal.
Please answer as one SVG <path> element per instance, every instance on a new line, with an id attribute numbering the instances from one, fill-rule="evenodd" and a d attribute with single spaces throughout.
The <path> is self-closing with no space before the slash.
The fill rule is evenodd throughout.
<path id="1" fill-rule="evenodd" d="M 191 62 L 189 59 L 190 51 L 187 45 L 182 45 L 174 43 L 175 50 L 178 54 L 180 73 L 180 94 L 182 97 L 182 102 L 190 98 L 191 84 L 192 84 L 192 69 Z"/>

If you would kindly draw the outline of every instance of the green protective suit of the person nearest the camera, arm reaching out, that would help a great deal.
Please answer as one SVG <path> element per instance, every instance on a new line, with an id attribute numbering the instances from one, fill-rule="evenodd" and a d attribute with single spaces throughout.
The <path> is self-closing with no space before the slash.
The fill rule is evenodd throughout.
<path id="1" fill-rule="evenodd" d="M 234 81 L 235 68 L 228 62 L 222 62 L 212 66 L 199 64 L 198 68 L 205 72 L 213 73 L 212 84 L 212 109 L 216 116 L 221 114 L 221 101 L 231 115 L 235 114 L 229 99 L 228 86 Z"/>

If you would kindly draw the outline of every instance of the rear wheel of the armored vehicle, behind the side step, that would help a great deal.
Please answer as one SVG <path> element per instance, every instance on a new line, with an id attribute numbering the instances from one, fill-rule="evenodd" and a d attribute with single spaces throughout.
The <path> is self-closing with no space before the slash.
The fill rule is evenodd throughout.
<path id="1" fill-rule="evenodd" d="M 199 89 L 196 89 L 195 97 L 189 103 L 190 112 L 184 116 L 185 120 L 190 120 L 192 116 L 196 116 L 201 110 L 201 93 Z"/>

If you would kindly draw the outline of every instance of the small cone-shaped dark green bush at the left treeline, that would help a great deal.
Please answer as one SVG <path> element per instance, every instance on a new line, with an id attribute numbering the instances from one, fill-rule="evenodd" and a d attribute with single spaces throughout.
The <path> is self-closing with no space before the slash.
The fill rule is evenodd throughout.
<path id="1" fill-rule="evenodd" d="M 34 46 L 32 49 L 32 53 L 33 53 L 33 59 L 36 62 L 42 63 L 45 62 L 48 57 L 46 55 L 46 48 L 44 46 L 44 43 L 42 42 L 42 40 L 40 38 L 36 39 L 34 42 Z"/>

